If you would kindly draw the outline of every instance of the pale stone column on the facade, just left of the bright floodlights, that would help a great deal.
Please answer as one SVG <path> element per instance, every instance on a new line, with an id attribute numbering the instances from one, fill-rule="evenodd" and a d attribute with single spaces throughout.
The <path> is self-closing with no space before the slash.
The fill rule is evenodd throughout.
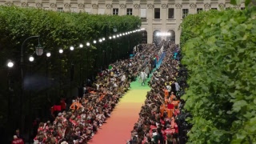
<path id="1" fill-rule="evenodd" d="M 153 42 L 153 18 L 154 18 L 154 5 L 149 3 L 147 4 L 147 8 L 146 8 L 146 19 L 147 19 L 147 42 L 148 43 L 152 43 Z"/>

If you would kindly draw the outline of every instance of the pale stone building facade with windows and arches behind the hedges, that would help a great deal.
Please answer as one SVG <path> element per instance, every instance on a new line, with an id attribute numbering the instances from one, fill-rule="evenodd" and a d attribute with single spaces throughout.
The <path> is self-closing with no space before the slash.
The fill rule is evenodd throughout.
<path id="1" fill-rule="evenodd" d="M 244 9 L 230 5 L 230 0 L 0 0 L 0 5 L 38 7 L 45 10 L 86 12 L 89 14 L 134 15 L 142 19 L 142 42 L 155 42 L 162 38 L 180 42 L 178 26 L 187 14 L 200 10 Z M 170 36 L 157 37 L 157 33 Z"/>

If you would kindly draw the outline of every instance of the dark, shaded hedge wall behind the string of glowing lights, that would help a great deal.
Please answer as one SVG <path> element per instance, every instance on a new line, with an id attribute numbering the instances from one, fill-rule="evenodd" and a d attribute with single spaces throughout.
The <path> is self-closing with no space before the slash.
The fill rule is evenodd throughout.
<path id="1" fill-rule="evenodd" d="M 6 122 L 12 119 L 8 122 L 13 126 L 10 130 L 19 127 L 21 103 L 19 102 L 21 86 L 20 50 L 22 42 L 26 38 L 40 35 L 41 44 L 45 48 L 45 53 L 42 56 L 36 56 L 34 47 L 38 44 L 38 39 L 34 38 L 27 42 L 24 50 L 25 79 L 30 78 L 30 76 L 36 78 L 31 91 L 32 94 L 26 90 L 26 103 L 24 105 L 29 106 L 27 102 L 29 98 L 32 98 L 32 107 L 26 107 L 26 115 L 29 115 L 31 109 L 33 111 L 29 117 L 36 118 L 49 114 L 47 110 L 50 105 L 60 97 L 59 82 L 62 85 L 61 94 L 64 97 L 70 96 L 68 93 L 70 91 L 71 63 L 74 64 L 74 80 L 72 80 L 71 85 L 72 88 L 75 88 L 80 86 L 80 65 L 83 82 L 86 77 L 88 78 L 92 74 L 95 76 L 103 64 L 107 65 L 107 63 L 128 56 L 133 46 L 142 39 L 142 34 L 134 33 L 109 40 L 108 37 L 114 34 L 114 27 L 118 29 L 116 34 L 121 34 L 130 30 L 137 30 L 140 24 L 140 18 L 134 16 L 76 14 L 0 6 L 0 75 L 2 80 L 0 82 L 0 101 L 2 102 L 0 123 L 2 126 L 6 126 Z M 103 37 L 106 38 L 106 42 L 86 47 L 86 42 L 92 44 L 94 40 Z M 84 45 L 83 49 L 78 49 L 80 43 Z M 70 52 L 70 46 L 74 46 L 77 50 Z M 58 54 L 60 48 L 64 50 L 61 56 Z M 51 53 L 51 57 L 48 59 L 48 77 L 51 84 L 48 86 L 42 84 L 46 77 L 46 51 Z M 33 63 L 28 60 L 31 54 L 34 54 L 35 57 Z M 9 70 L 9 74 L 6 67 L 8 59 L 14 61 L 14 68 Z M 29 69 L 31 74 L 29 74 Z M 11 80 L 14 92 L 8 90 L 7 76 Z M 31 86 L 29 87 L 31 88 Z M 46 90 L 49 91 L 49 98 L 46 98 Z"/>

